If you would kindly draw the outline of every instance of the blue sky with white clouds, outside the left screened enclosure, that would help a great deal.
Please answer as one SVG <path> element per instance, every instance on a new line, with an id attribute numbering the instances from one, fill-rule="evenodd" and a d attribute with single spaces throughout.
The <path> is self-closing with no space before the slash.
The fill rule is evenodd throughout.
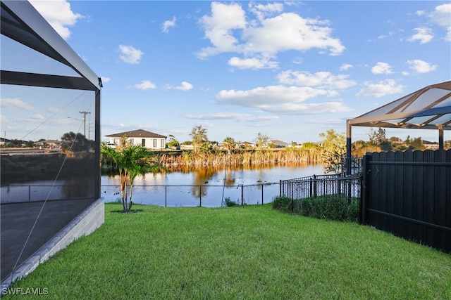
<path id="1" fill-rule="evenodd" d="M 451 77 L 449 1 L 31 2 L 102 78 L 103 138 L 202 125 L 211 141 L 320 141 Z"/>

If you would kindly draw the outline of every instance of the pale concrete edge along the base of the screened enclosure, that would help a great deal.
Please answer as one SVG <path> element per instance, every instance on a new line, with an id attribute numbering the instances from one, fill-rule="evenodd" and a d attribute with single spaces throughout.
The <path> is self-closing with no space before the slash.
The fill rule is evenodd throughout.
<path id="1" fill-rule="evenodd" d="M 11 283 L 32 273 L 40 263 L 47 261 L 61 249 L 66 248 L 78 238 L 89 235 L 105 221 L 105 202 L 102 198 L 94 201 L 81 214 L 75 217 L 59 233 L 45 243 L 35 254 L 1 282 L 0 294 L 11 286 Z"/>

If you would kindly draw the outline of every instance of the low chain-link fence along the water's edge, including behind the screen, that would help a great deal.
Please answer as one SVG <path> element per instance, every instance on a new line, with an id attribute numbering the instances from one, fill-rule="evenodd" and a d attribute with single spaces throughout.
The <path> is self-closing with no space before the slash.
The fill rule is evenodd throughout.
<path id="1" fill-rule="evenodd" d="M 258 183 L 252 185 L 133 185 L 132 201 L 137 204 L 151 204 L 163 207 L 221 207 L 226 199 L 235 204 L 264 204 L 278 196 L 279 183 Z M 54 185 L 8 185 L 1 187 L 1 203 L 36 202 L 43 200 L 64 200 L 67 192 L 87 186 Z M 105 202 L 121 199 L 119 185 L 101 185 L 101 197 Z M 229 202 L 229 203 L 230 203 Z"/>

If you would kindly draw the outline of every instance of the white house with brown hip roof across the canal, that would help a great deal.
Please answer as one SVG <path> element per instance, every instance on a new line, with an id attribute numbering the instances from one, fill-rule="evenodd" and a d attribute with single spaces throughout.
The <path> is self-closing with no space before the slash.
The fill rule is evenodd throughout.
<path id="1" fill-rule="evenodd" d="M 115 145 L 121 144 L 121 138 L 123 136 L 127 136 L 127 141 L 132 145 L 142 145 L 143 147 L 149 149 L 166 148 L 167 136 L 161 136 L 161 134 L 142 129 L 114 133 L 106 137 L 110 138 L 109 145 L 114 147 Z"/>

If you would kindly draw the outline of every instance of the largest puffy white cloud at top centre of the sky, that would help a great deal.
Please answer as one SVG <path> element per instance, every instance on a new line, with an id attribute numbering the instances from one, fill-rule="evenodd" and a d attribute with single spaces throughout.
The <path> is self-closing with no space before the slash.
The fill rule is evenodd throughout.
<path id="1" fill-rule="evenodd" d="M 201 19 L 205 37 L 212 46 L 202 48 L 199 58 L 218 53 L 243 53 L 248 58 L 275 57 L 280 51 L 307 51 L 311 48 L 328 50 L 330 55 L 339 55 L 345 50 L 340 39 L 331 37 L 328 21 L 302 18 L 296 13 L 280 13 L 280 4 L 254 5 L 252 11 L 257 19 L 250 19 L 240 4 L 211 4 L 211 15 Z M 273 18 L 266 15 L 280 13 Z"/>

